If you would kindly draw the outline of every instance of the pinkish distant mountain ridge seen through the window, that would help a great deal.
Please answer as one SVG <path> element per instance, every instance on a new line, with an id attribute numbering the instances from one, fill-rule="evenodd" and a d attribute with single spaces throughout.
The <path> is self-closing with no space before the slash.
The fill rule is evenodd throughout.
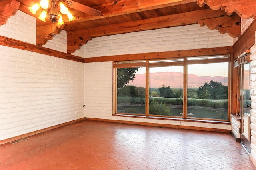
<path id="1" fill-rule="evenodd" d="M 128 85 L 137 87 L 145 87 L 145 73 L 136 74 L 134 82 L 130 81 Z M 211 77 L 211 76 L 197 76 L 195 74 L 188 74 L 188 88 L 198 88 L 203 86 L 205 82 L 214 80 L 221 82 L 223 85 L 228 86 L 228 77 Z M 170 88 L 183 88 L 183 73 L 180 72 L 156 72 L 150 73 L 150 88 L 159 88 L 170 86 Z"/>

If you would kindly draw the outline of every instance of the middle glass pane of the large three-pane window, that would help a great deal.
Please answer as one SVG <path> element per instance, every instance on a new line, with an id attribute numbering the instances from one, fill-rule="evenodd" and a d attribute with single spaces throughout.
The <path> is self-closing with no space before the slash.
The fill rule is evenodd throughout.
<path id="1" fill-rule="evenodd" d="M 182 117 L 183 66 L 149 68 L 149 114 Z"/>

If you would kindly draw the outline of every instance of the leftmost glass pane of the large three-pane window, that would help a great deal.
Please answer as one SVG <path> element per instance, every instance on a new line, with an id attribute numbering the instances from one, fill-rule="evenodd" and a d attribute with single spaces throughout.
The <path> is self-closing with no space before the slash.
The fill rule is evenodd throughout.
<path id="1" fill-rule="evenodd" d="M 117 112 L 145 114 L 146 68 L 117 68 Z"/>

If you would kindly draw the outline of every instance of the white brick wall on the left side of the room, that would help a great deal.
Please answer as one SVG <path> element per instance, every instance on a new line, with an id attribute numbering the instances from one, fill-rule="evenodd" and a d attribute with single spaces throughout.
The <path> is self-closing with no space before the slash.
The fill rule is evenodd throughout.
<path id="1" fill-rule="evenodd" d="M 17 10 L 0 35 L 35 44 L 35 23 Z M 83 118 L 83 104 L 83 63 L 0 46 L 0 140 Z"/>

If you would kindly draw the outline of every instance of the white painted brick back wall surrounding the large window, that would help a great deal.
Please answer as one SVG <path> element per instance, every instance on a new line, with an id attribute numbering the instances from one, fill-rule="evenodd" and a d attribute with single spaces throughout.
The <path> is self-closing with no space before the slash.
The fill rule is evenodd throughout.
<path id="1" fill-rule="evenodd" d="M 232 46 L 233 38 L 199 25 L 93 38 L 85 57 Z M 85 117 L 231 130 L 231 125 L 112 116 L 112 62 L 85 63 Z"/>

